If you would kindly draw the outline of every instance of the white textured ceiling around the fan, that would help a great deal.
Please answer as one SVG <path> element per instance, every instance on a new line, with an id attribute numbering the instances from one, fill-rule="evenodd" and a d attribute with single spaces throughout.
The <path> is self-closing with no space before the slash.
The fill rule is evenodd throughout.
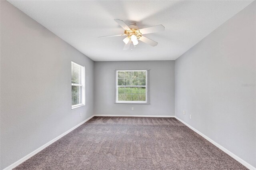
<path id="1" fill-rule="evenodd" d="M 252 1 L 8 1 L 94 61 L 174 60 Z M 165 32 L 146 34 L 124 51 L 123 34 L 114 21 L 139 28 L 162 24 Z"/>

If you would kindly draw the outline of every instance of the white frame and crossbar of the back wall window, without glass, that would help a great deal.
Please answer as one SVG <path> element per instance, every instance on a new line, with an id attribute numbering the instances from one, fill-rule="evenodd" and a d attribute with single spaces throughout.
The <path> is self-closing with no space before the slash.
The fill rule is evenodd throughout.
<path id="1" fill-rule="evenodd" d="M 148 88 L 148 73 L 149 73 L 149 69 L 143 69 L 143 70 L 115 70 L 116 71 L 116 83 L 115 83 L 115 87 L 116 87 L 116 95 L 115 95 L 115 103 L 122 103 L 122 104 L 144 104 L 144 105 L 149 105 L 149 88 Z M 146 85 L 142 86 L 142 85 L 118 85 L 118 72 L 119 71 L 146 71 Z M 118 87 L 146 87 L 146 101 L 118 101 Z"/>

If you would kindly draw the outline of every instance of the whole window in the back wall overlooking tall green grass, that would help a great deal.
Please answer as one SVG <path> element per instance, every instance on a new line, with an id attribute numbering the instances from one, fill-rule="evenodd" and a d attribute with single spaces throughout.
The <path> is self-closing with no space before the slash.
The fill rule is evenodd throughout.
<path id="1" fill-rule="evenodd" d="M 148 70 L 116 71 L 116 103 L 148 104 Z"/>

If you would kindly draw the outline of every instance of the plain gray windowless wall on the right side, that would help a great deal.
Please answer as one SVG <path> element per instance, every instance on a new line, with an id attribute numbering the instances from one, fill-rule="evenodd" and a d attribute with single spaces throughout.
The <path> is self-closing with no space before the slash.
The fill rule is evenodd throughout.
<path id="1" fill-rule="evenodd" d="M 254 1 L 175 61 L 175 115 L 254 167 L 255 24 Z"/>

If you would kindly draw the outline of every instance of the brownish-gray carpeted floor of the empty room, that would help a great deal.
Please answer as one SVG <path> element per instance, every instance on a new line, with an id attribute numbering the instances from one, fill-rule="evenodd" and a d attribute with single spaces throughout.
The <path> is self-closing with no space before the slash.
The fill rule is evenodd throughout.
<path id="1" fill-rule="evenodd" d="M 93 117 L 15 170 L 244 170 L 175 118 Z"/>

